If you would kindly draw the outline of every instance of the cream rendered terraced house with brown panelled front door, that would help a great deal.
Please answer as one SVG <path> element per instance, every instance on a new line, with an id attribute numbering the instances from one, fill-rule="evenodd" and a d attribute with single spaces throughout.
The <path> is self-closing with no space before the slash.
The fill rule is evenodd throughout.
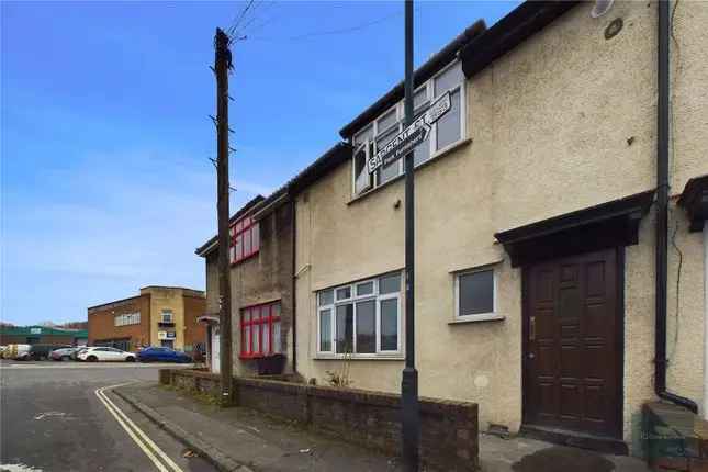
<path id="1" fill-rule="evenodd" d="M 708 4 L 597 13 L 526 2 L 417 69 L 451 108 L 415 149 L 416 359 L 483 429 L 638 451 L 643 405 L 708 405 Z M 403 116 L 398 85 L 281 190 L 305 380 L 400 391 L 403 162 L 367 162 Z"/>

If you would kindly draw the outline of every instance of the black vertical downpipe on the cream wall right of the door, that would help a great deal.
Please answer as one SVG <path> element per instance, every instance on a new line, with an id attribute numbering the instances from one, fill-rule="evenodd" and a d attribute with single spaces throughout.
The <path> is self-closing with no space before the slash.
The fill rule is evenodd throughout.
<path id="1" fill-rule="evenodd" d="M 656 319 L 654 337 L 654 392 L 656 396 L 693 413 L 698 405 L 666 390 L 666 286 L 668 278 L 668 97 L 671 16 L 668 0 L 659 1 L 659 48 L 656 64 Z"/>

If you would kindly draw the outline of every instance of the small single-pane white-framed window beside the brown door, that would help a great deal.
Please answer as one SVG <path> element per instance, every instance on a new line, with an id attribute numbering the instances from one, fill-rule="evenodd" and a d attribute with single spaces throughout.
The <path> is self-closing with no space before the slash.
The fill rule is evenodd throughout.
<path id="1" fill-rule="evenodd" d="M 494 267 L 480 267 L 454 276 L 454 316 L 457 319 L 498 317 L 497 274 Z"/>

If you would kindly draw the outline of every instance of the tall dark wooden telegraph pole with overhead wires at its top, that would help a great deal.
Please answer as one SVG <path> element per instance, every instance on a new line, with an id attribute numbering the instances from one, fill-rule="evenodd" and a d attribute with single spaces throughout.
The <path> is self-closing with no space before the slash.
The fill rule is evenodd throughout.
<path id="1" fill-rule="evenodd" d="M 229 38 L 221 29 L 214 35 L 216 74 L 216 192 L 218 218 L 218 322 L 222 406 L 232 404 L 232 296 L 228 267 L 228 70 L 232 68 Z"/>

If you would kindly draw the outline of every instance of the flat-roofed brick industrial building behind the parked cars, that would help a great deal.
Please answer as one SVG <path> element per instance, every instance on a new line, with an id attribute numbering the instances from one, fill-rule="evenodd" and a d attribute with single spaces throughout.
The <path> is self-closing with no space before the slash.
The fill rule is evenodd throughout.
<path id="1" fill-rule="evenodd" d="M 124 350 L 166 346 L 184 351 L 203 350 L 204 292 L 177 286 L 146 286 L 141 294 L 88 308 L 89 345 Z"/>

